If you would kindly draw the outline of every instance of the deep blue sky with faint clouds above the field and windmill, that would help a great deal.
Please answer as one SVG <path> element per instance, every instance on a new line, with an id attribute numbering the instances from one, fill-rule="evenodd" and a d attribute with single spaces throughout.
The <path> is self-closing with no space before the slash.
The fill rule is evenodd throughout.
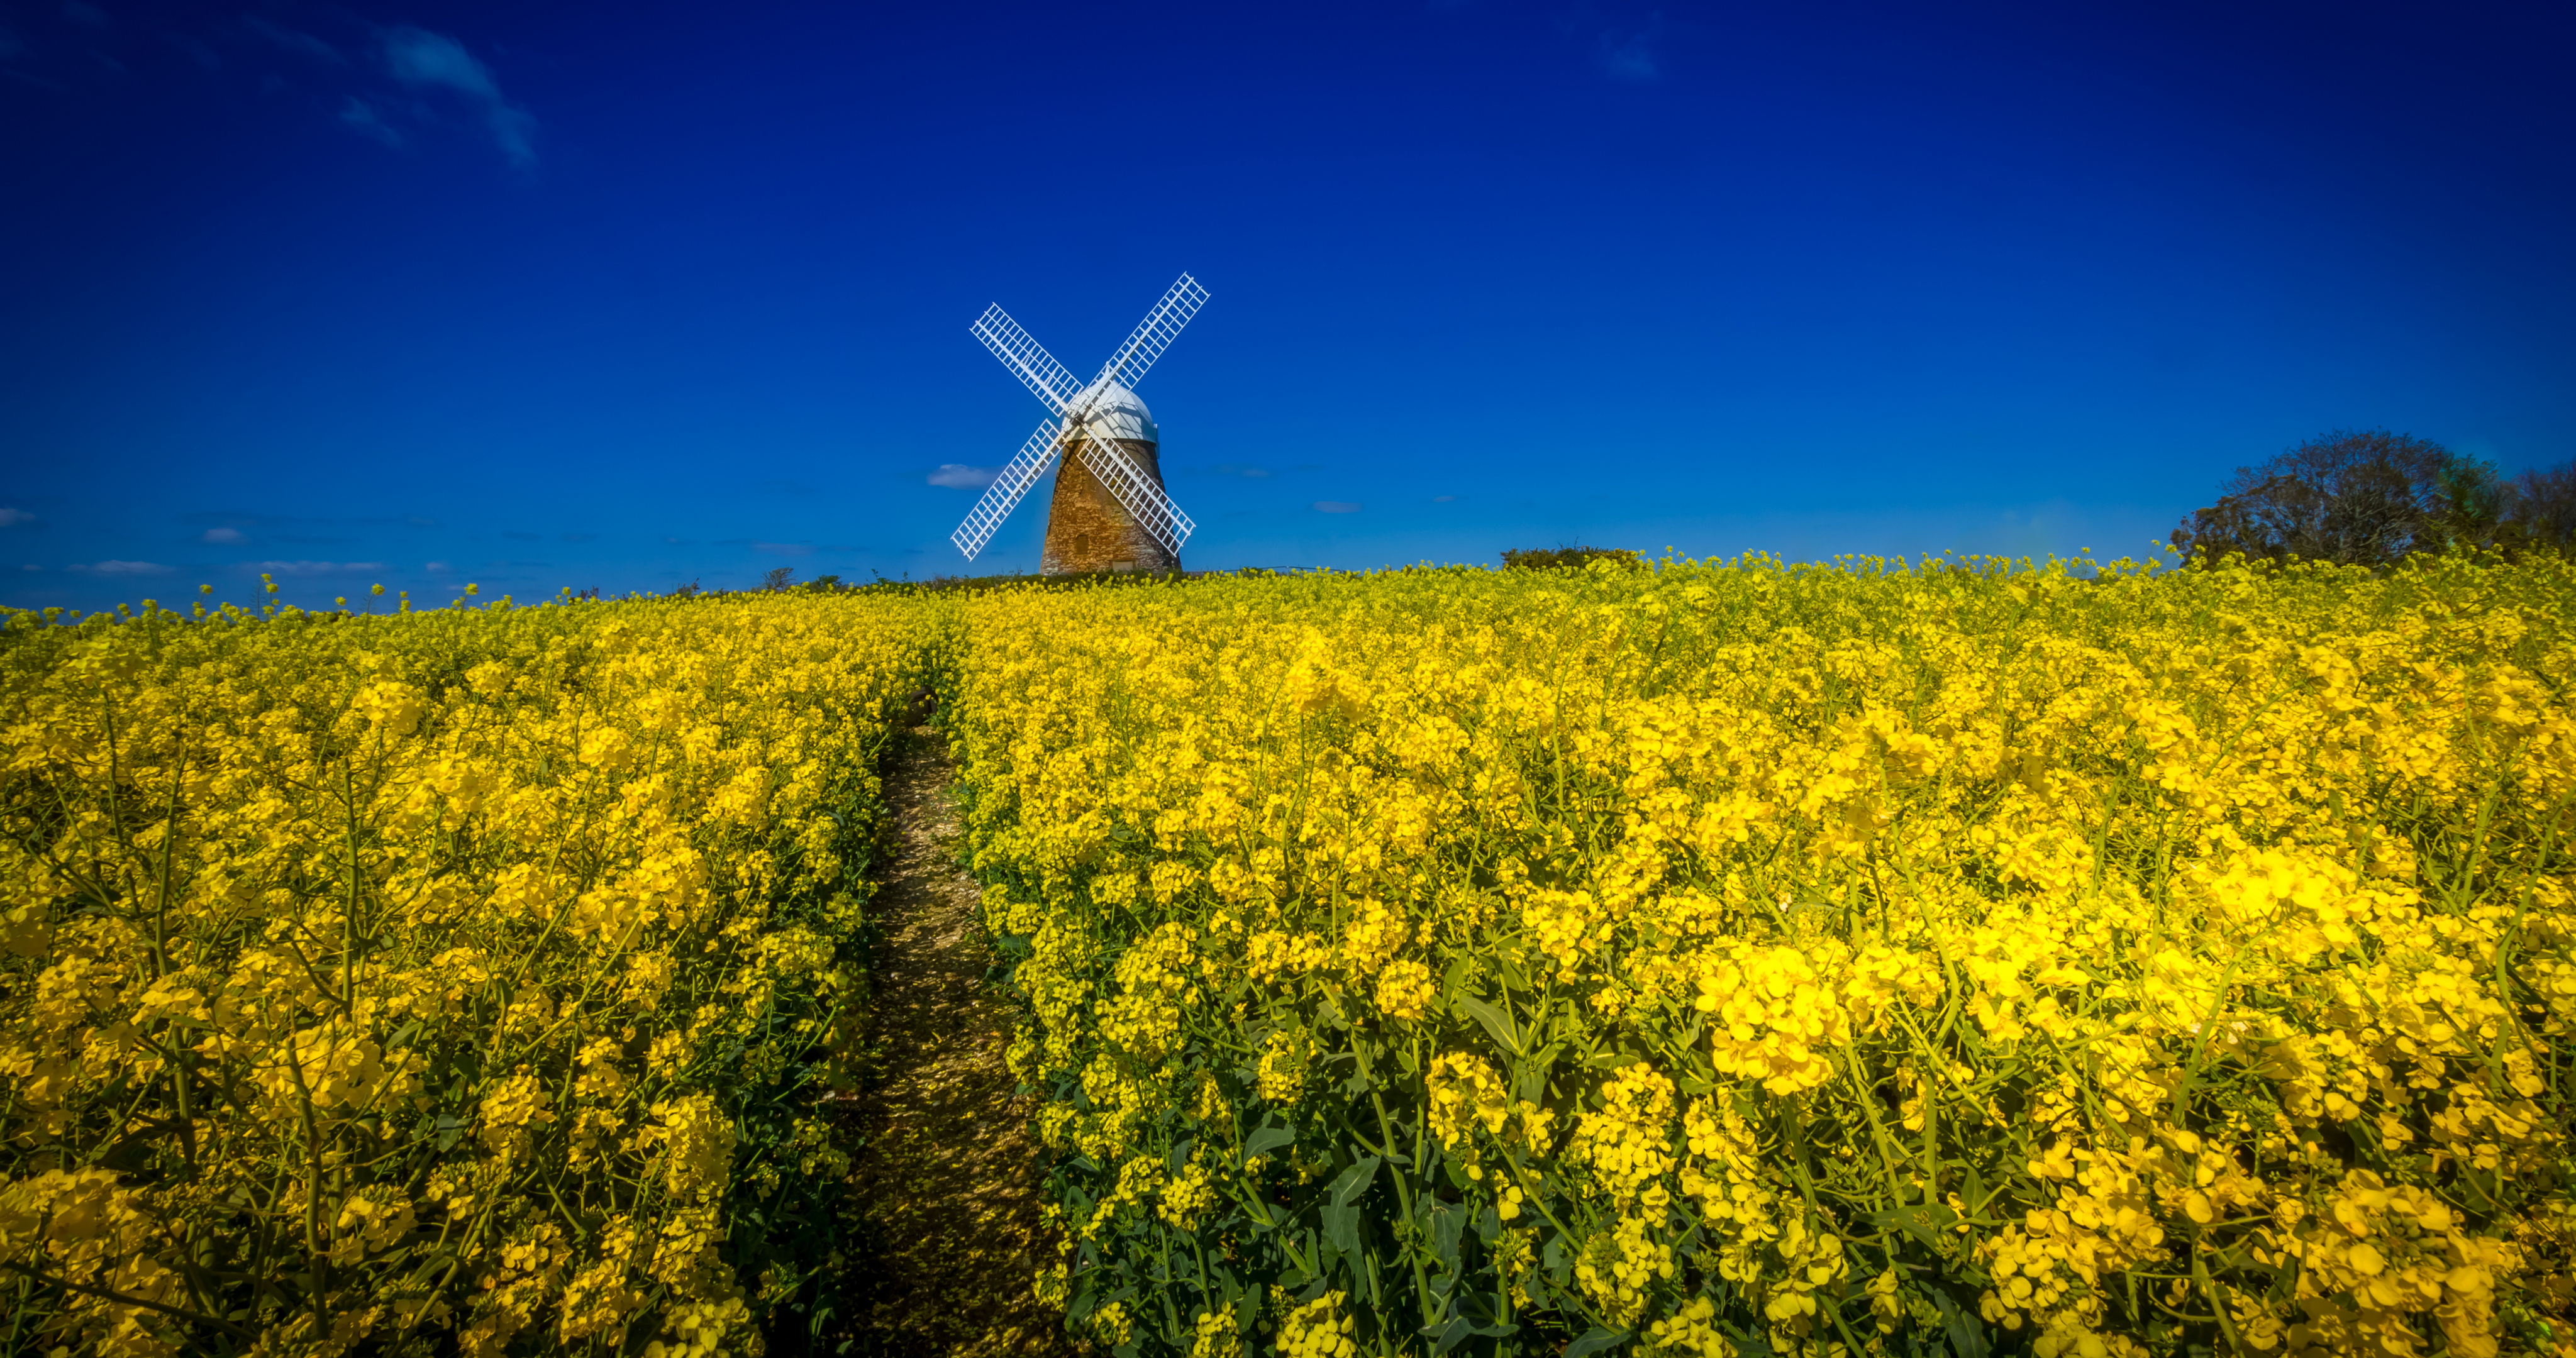
<path id="1" fill-rule="evenodd" d="M 951 575 L 1141 394 L 1190 567 L 2143 551 L 2576 456 L 2563 5 L 0 5 L 0 603 Z M 1043 495 L 971 567 L 1036 569 Z"/>

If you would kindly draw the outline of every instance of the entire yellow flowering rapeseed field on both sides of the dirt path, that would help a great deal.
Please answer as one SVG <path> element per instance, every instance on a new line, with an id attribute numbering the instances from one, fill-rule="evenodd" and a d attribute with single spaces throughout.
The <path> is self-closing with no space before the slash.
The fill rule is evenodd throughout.
<path id="1" fill-rule="evenodd" d="M 2576 572 L 0 631 L 10 1350 L 755 1353 L 940 693 L 1118 1358 L 2576 1353 Z"/>

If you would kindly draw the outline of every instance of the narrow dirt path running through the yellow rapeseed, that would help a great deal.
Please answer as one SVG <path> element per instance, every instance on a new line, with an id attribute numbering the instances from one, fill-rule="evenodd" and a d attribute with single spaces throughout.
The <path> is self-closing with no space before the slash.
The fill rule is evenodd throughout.
<path id="1" fill-rule="evenodd" d="M 984 984 L 992 951 L 976 884 L 956 866 L 948 752 L 912 727 L 884 776 L 873 1067 L 848 1105 L 866 1136 L 848 1196 L 860 1250 L 835 1306 L 842 1335 L 824 1350 L 1072 1355 L 1064 1317 L 1028 1291 L 1046 1250 L 1038 1144 L 1002 1069 L 1010 1005 Z"/>

